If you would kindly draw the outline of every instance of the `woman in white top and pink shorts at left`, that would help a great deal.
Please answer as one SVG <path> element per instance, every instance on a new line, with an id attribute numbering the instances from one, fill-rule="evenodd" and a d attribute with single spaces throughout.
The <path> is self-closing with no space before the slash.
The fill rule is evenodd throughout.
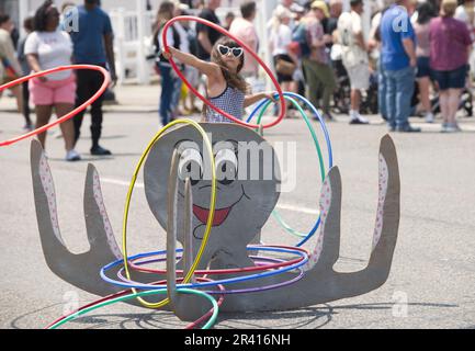
<path id="1" fill-rule="evenodd" d="M 71 65 L 72 42 L 68 33 L 58 30 L 58 25 L 59 11 L 53 1 L 47 0 L 36 11 L 35 31 L 29 35 L 25 43 L 25 55 L 33 71 Z M 53 111 L 58 117 L 72 111 L 76 100 L 76 76 L 72 71 L 60 71 L 32 79 L 30 93 L 36 106 L 36 128 L 39 128 L 49 122 Z M 64 122 L 60 128 L 65 139 L 66 160 L 80 160 L 80 155 L 73 149 L 72 121 Z M 45 148 L 46 133 L 39 134 L 38 139 Z"/>

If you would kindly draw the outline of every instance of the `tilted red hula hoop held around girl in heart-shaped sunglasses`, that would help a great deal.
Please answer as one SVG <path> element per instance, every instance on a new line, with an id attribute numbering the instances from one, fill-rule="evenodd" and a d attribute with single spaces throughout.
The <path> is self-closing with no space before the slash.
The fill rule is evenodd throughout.
<path id="1" fill-rule="evenodd" d="M 273 121 L 272 123 L 265 124 L 262 127 L 263 128 L 270 128 L 276 124 L 279 124 L 283 117 L 285 116 L 285 101 L 284 101 L 284 97 L 283 97 L 283 92 L 281 87 L 279 86 L 278 80 L 275 79 L 274 75 L 272 73 L 271 69 L 264 64 L 264 61 L 255 53 L 252 52 L 252 49 L 249 48 L 249 46 L 247 46 L 245 43 L 242 43 L 241 41 L 239 41 L 236 36 L 231 35 L 229 32 L 227 32 L 226 30 L 224 30 L 223 27 L 220 27 L 219 25 L 206 21 L 204 19 L 201 18 L 195 18 L 192 15 L 180 15 L 177 18 L 171 19 L 170 21 L 167 22 L 167 24 L 163 26 L 163 31 L 161 33 L 161 37 L 163 41 L 163 49 L 166 53 L 169 53 L 169 46 L 168 46 L 168 42 L 167 42 L 167 31 L 168 29 L 174 23 L 174 22 L 188 22 L 188 21 L 192 21 L 192 22 L 197 22 L 201 24 L 205 24 L 207 26 L 210 26 L 211 29 L 222 33 L 225 36 L 230 37 L 233 41 L 235 41 L 239 46 L 241 46 L 249 55 L 251 55 L 258 63 L 259 65 L 265 70 L 265 72 L 269 75 L 270 79 L 272 80 L 272 83 L 274 84 L 278 93 L 279 93 L 279 100 L 281 102 L 281 114 L 279 115 L 279 117 Z M 210 109 L 213 109 L 214 111 L 216 111 L 217 113 L 224 115 L 226 118 L 229 118 L 240 125 L 247 126 L 247 127 L 251 127 L 251 128 L 257 128 L 259 127 L 256 124 L 249 124 L 247 122 L 240 121 L 238 118 L 236 118 L 235 116 L 226 113 L 225 111 L 216 107 L 215 105 L 213 105 L 205 97 L 203 97 L 184 77 L 184 75 L 180 71 L 180 69 L 177 67 L 177 64 L 173 61 L 173 57 L 170 57 L 169 59 L 171 67 L 173 68 L 174 72 L 180 77 L 180 79 L 186 84 L 186 87 L 201 100 L 203 101 L 204 104 L 206 104 Z"/>

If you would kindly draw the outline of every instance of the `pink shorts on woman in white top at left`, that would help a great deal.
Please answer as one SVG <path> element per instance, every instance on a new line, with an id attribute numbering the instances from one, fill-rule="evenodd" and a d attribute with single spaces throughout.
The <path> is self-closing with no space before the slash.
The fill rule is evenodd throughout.
<path id="1" fill-rule="evenodd" d="M 76 76 L 71 73 L 61 80 L 42 82 L 38 78 L 30 81 L 30 93 L 33 104 L 49 106 L 56 103 L 76 103 Z"/>

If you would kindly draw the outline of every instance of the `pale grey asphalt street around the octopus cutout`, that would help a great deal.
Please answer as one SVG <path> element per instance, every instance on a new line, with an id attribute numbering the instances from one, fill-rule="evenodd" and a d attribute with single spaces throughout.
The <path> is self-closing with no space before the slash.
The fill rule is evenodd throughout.
<path id="1" fill-rule="evenodd" d="M 378 144 L 387 133 L 377 116 L 351 126 L 344 116 L 328 124 L 335 165 L 342 176 L 340 259 L 335 269 L 351 272 L 367 263 L 377 206 Z M 400 225 L 387 282 L 354 298 L 298 310 L 220 314 L 215 328 L 475 328 L 475 118 L 463 133 L 439 133 L 440 125 L 414 120 L 421 134 L 392 134 L 400 180 Z M 0 139 L 21 133 L 21 118 L 0 114 Z M 439 121 L 440 122 L 440 121 Z M 159 128 L 156 113 L 113 112 L 104 120 L 102 145 L 112 157 L 89 155 L 89 117 L 78 144 L 82 161 L 64 161 L 63 139 L 48 134 L 47 155 L 55 181 L 59 225 L 68 248 L 88 250 L 82 193 L 88 162 L 101 178 L 105 207 L 118 244 L 127 185 L 139 156 Z M 317 124 L 315 124 L 318 127 Z M 321 134 L 319 134 L 321 140 Z M 284 121 L 265 133 L 270 141 L 296 141 L 298 183 L 278 207 L 294 228 L 313 227 L 321 180 L 312 138 L 302 120 Z M 145 199 L 142 174 L 129 217 L 129 251 L 165 248 L 165 231 Z M 53 274 L 43 257 L 33 200 L 30 141 L 0 148 L 0 328 L 43 328 L 71 306 L 97 296 Z M 294 245 L 271 217 L 265 244 Z M 308 245 L 312 249 L 312 242 Z M 182 328 L 171 313 L 118 304 L 66 328 Z"/>

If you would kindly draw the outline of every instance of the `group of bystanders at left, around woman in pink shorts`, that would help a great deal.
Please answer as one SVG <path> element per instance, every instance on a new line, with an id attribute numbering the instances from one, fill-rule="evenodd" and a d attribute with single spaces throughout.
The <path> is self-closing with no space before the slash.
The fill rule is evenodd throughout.
<path id="1" fill-rule="evenodd" d="M 12 38 L 13 23 L 8 14 L 0 14 L 0 71 L 1 80 L 39 72 L 59 66 L 97 65 L 108 67 L 115 83 L 115 59 L 113 32 L 109 15 L 100 8 L 99 0 L 84 0 L 76 8 L 80 31 L 65 31 L 60 18 L 72 4 L 65 3 L 61 11 L 52 0 L 46 0 L 34 16 L 24 20 L 26 36 L 18 43 L 18 53 Z M 18 109 L 25 117 L 25 131 L 39 128 L 49 123 L 52 114 L 58 117 L 82 105 L 102 86 L 103 77 L 99 71 L 59 71 L 32 79 L 23 87 L 13 88 Z M 102 132 L 102 97 L 92 103 L 91 112 L 91 155 L 106 156 L 112 152 L 103 148 L 99 140 Z M 32 123 L 30 103 L 35 105 L 36 122 Z M 81 159 L 75 149 L 80 136 L 84 113 L 60 124 L 65 140 L 66 160 Z M 46 133 L 38 135 L 45 148 Z"/>

